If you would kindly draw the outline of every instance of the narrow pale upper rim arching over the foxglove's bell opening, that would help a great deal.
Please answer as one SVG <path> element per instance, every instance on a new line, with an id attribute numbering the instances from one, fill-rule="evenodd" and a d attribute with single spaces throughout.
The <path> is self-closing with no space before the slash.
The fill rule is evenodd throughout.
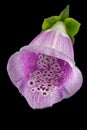
<path id="1" fill-rule="evenodd" d="M 29 45 L 29 46 L 24 46 L 20 49 L 21 53 L 23 52 L 36 52 L 36 53 L 43 53 L 43 54 L 47 54 L 49 56 L 54 56 L 60 59 L 63 59 L 67 62 L 69 62 L 69 64 L 72 66 L 72 63 L 75 65 L 75 62 L 73 60 L 71 60 L 71 58 L 67 55 L 65 55 L 64 53 L 57 51 L 53 48 L 49 48 L 46 46 L 38 46 L 38 45 Z"/>

